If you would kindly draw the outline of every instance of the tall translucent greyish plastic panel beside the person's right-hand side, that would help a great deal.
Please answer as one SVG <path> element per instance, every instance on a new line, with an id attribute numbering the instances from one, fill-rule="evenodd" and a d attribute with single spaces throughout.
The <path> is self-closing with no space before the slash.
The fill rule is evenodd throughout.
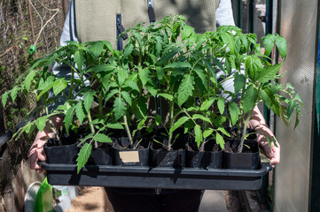
<path id="1" fill-rule="evenodd" d="M 275 177 L 275 211 L 308 211 L 312 103 L 316 72 L 317 1 L 282 0 L 280 31 L 288 42 L 281 83 L 290 82 L 300 93 L 304 107 L 300 125 L 293 131 L 276 119 L 276 137 L 281 144 L 281 163 Z M 295 118 L 295 117 L 293 117 Z"/>

